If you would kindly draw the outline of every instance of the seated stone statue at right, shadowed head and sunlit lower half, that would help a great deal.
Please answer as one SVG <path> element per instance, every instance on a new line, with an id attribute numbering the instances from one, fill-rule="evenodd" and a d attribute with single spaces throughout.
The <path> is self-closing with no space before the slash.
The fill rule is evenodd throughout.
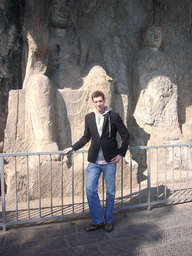
<path id="1" fill-rule="evenodd" d="M 144 33 L 144 48 L 135 63 L 133 87 L 133 116 L 138 126 L 151 134 L 150 140 L 153 130 L 155 134 L 159 130 L 159 141 L 173 140 L 180 134 L 175 68 L 170 58 L 159 49 L 161 43 L 161 28 L 149 27 Z M 167 129 L 169 132 L 165 136 L 163 133 Z M 153 143 L 158 143 L 157 135 Z"/>

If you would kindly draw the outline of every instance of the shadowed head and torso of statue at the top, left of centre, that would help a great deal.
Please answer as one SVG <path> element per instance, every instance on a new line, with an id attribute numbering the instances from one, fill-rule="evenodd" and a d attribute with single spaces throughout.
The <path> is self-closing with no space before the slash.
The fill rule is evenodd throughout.
<path id="1" fill-rule="evenodd" d="M 48 18 L 50 78 L 57 88 L 78 89 L 83 85 L 82 73 L 88 50 L 85 40 L 74 29 L 76 1 L 52 1 Z"/>

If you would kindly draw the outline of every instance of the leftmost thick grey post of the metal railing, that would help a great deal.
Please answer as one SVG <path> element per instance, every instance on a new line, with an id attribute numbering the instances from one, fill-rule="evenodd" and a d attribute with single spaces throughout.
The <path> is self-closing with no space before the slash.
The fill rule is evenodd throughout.
<path id="1" fill-rule="evenodd" d="M 1 174 L 0 180 L 1 180 L 1 202 L 2 202 L 3 231 L 6 231 L 4 158 L 1 155 L 0 155 L 0 174 Z"/>

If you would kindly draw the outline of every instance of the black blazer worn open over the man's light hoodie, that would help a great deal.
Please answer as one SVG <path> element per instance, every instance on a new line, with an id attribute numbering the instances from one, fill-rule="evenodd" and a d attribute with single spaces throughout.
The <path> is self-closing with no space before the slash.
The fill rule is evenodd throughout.
<path id="1" fill-rule="evenodd" d="M 116 135 L 119 132 L 122 143 L 118 148 Z M 88 161 L 95 163 L 100 147 L 106 162 L 111 162 L 111 159 L 116 155 L 125 156 L 129 145 L 129 132 L 125 127 L 120 115 L 110 111 L 104 116 L 103 131 L 99 136 L 95 113 L 91 112 L 85 116 L 85 130 L 83 136 L 72 145 L 73 150 L 82 148 L 91 139 L 91 146 L 88 151 Z"/>

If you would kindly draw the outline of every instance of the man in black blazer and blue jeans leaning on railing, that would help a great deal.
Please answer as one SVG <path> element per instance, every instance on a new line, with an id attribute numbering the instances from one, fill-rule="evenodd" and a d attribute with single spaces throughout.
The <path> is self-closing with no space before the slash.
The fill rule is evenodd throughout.
<path id="1" fill-rule="evenodd" d="M 95 108 L 93 112 L 85 116 L 83 136 L 72 147 L 65 149 L 65 154 L 82 148 L 91 139 L 88 151 L 86 192 L 92 224 L 85 230 L 93 231 L 104 228 L 105 231 L 111 232 L 113 230 L 116 164 L 126 154 L 129 132 L 119 114 L 105 107 L 103 92 L 95 91 L 92 94 L 92 101 Z M 122 139 L 120 148 L 116 140 L 117 131 Z M 107 188 L 105 215 L 97 193 L 101 172 L 103 172 Z"/>

